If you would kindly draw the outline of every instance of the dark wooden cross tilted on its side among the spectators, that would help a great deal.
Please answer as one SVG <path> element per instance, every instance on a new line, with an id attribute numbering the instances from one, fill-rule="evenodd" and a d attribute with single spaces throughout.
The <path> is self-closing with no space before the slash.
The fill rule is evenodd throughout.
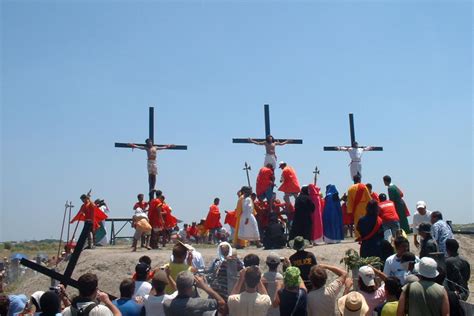
<path id="1" fill-rule="evenodd" d="M 89 232 L 91 230 L 92 230 L 92 222 L 84 222 L 84 228 L 82 228 L 81 235 L 79 236 L 79 240 L 77 241 L 76 247 L 74 248 L 74 252 L 69 258 L 69 262 L 67 264 L 66 270 L 64 271 L 64 274 L 58 273 L 52 269 L 48 269 L 45 266 L 42 266 L 40 264 L 37 264 L 25 258 L 22 258 L 20 260 L 20 263 L 27 268 L 30 268 L 34 271 L 44 274 L 52 279 L 58 280 L 65 287 L 70 285 L 80 290 L 79 282 L 71 278 L 71 276 L 72 276 L 72 273 L 74 272 L 74 268 L 76 267 L 77 261 L 79 260 L 79 256 L 81 255 L 82 249 L 84 249 L 84 245 L 86 244 L 86 241 L 87 241 L 87 236 L 89 235 Z M 109 297 L 111 299 L 115 299 L 115 297 L 110 294 L 109 294 Z"/>

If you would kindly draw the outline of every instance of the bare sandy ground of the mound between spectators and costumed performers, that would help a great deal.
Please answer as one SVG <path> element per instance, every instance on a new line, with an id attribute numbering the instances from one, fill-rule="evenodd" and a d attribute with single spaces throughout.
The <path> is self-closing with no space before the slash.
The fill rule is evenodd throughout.
<path id="1" fill-rule="evenodd" d="M 411 237 L 411 236 L 410 236 Z M 456 235 L 460 243 L 460 254 L 471 263 L 471 279 L 469 281 L 470 289 L 474 289 L 474 236 L 470 235 Z M 412 242 L 410 239 L 410 242 Z M 326 263 L 331 265 L 343 266 L 340 264 L 344 252 L 350 248 L 358 250 L 358 244 L 355 242 L 345 241 L 335 245 L 322 245 L 308 248 L 315 254 L 319 263 Z M 412 249 L 415 249 L 413 244 Z M 201 252 L 206 265 L 216 257 L 216 248 L 209 248 L 208 246 L 199 247 L 196 249 Z M 279 256 L 290 256 L 294 251 L 291 249 L 262 250 L 255 247 L 250 247 L 243 250 L 238 250 L 239 257 L 244 257 L 248 253 L 255 253 L 260 257 L 261 268 L 264 266 L 265 258 L 270 252 L 276 252 Z M 415 250 L 417 253 L 418 251 Z M 130 277 L 133 273 L 135 264 L 138 258 L 142 255 L 148 255 L 152 259 L 153 266 L 160 266 L 169 261 L 171 254 L 171 247 L 161 250 L 146 250 L 139 249 L 137 252 L 131 252 L 128 246 L 113 246 L 113 247 L 98 247 L 93 250 L 84 250 L 81 254 L 78 264 L 74 270 L 73 278 L 77 279 L 80 275 L 86 272 L 92 272 L 99 277 L 99 287 L 103 291 L 118 296 L 119 284 L 122 279 Z M 63 272 L 65 264 L 58 266 L 58 271 Z M 16 293 L 24 293 L 31 295 L 37 290 L 47 290 L 50 286 L 50 279 L 44 275 L 36 274 L 24 277 L 15 287 Z M 72 288 L 68 289 L 71 294 L 76 294 Z M 469 298 L 470 303 L 474 303 L 474 295 Z"/>

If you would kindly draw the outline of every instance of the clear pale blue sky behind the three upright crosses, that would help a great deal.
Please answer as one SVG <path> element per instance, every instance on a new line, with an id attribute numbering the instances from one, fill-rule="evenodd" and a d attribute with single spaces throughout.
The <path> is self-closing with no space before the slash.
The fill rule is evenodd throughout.
<path id="1" fill-rule="evenodd" d="M 350 185 L 355 114 L 363 176 L 390 174 L 409 207 L 425 200 L 456 223 L 474 221 L 470 2 L 1 3 L 1 240 L 58 238 L 64 202 L 93 189 L 113 217 L 147 189 L 148 106 L 161 152 L 160 187 L 175 214 L 233 209 L 263 163 L 263 104 L 300 182 Z M 277 173 L 279 176 L 279 173 Z"/>

